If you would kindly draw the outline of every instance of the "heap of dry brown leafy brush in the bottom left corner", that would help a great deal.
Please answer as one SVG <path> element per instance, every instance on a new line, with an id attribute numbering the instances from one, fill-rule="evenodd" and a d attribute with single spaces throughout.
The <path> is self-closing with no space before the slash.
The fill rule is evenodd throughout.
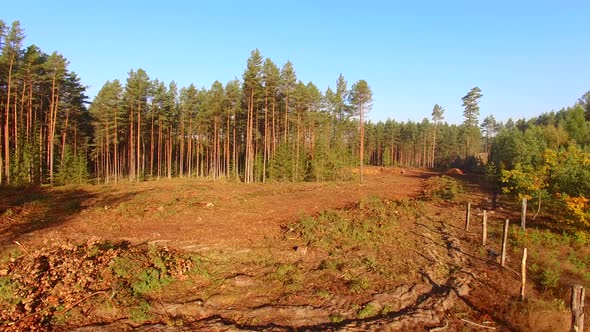
<path id="1" fill-rule="evenodd" d="M 0 325 L 14 331 L 62 325 L 91 307 L 148 320 L 150 297 L 185 278 L 196 260 L 166 247 L 98 241 L 8 257 L 0 263 Z"/>

